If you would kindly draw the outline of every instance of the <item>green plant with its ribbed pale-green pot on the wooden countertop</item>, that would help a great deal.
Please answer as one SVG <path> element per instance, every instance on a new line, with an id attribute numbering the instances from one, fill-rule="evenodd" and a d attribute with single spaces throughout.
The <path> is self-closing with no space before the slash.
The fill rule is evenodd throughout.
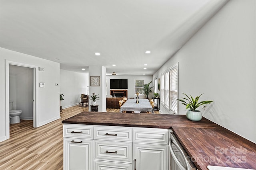
<path id="1" fill-rule="evenodd" d="M 182 94 L 184 94 L 187 98 L 180 98 L 177 100 L 182 102 L 182 104 L 184 104 L 186 106 L 186 109 L 188 109 L 186 116 L 189 120 L 192 120 L 192 121 L 200 121 L 202 119 L 201 111 L 196 110 L 196 108 L 198 108 L 199 106 L 204 106 L 205 104 L 214 102 L 212 100 L 198 102 L 198 100 L 199 100 L 200 96 L 202 96 L 202 94 L 200 96 L 196 96 L 196 98 L 193 98 L 191 95 L 190 95 L 190 97 L 188 97 L 188 95 L 186 95 L 185 93 L 182 93 Z"/>

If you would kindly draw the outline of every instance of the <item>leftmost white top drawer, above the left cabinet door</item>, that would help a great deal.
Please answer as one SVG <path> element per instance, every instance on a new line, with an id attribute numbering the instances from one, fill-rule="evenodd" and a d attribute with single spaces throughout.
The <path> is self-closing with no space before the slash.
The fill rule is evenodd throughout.
<path id="1" fill-rule="evenodd" d="M 93 139 L 93 126 L 63 125 L 63 137 Z"/>

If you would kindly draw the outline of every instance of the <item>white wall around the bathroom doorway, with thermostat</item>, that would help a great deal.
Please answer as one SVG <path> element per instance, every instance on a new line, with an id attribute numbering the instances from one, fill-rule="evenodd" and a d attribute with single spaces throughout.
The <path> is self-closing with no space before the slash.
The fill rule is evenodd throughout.
<path id="1" fill-rule="evenodd" d="M 60 81 L 60 64 L 40 59 L 38 57 L 10 51 L 0 48 L 0 141 L 6 139 L 6 82 L 5 82 L 5 60 L 40 66 L 44 71 L 38 72 L 38 82 L 45 82 L 44 88 L 38 88 L 37 114 L 39 126 L 60 118 L 59 111 L 59 86 L 55 83 Z M 36 84 L 38 86 L 38 84 Z M 8 94 L 7 94 L 8 95 Z M 9 102 L 9 101 L 8 101 Z M 8 104 L 9 105 L 9 104 Z"/>

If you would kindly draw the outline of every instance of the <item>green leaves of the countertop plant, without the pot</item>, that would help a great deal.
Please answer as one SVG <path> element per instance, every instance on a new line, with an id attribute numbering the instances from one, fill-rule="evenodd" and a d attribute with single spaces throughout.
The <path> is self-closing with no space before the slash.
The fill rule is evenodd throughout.
<path id="1" fill-rule="evenodd" d="M 197 111 L 196 108 L 198 108 L 199 106 L 204 106 L 205 104 L 209 104 L 211 102 L 214 102 L 212 100 L 211 101 L 198 102 L 200 96 L 202 96 L 203 94 L 201 94 L 200 96 L 196 96 L 196 98 L 193 98 L 191 95 L 189 97 L 185 93 L 182 93 L 182 94 L 187 96 L 187 98 L 181 98 L 181 99 L 177 99 L 177 100 L 182 102 L 182 104 L 184 104 L 186 106 L 186 109 L 190 109 L 191 111 Z"/>

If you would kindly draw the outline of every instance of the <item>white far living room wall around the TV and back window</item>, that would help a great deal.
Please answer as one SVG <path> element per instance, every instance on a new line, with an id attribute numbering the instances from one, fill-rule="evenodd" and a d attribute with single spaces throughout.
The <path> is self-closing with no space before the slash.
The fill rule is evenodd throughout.
<path id="1" fill-rule="evenodd" d="M 136 97 L 134 92 L 134 80 L 144 80 L 144 84 L 148 84 L 150 81 L 152 83 L 150 86 L 154 86 L 153 76 L 152 75 L 115 75 L 115 76 L 106 76 L 106 79 L 108 81 L 108 97 L 110 96 L 110 79 L 118 79 L 118 78 L 127 78 L 128 79 L 128 98 L 134 98 Z M 153 88 L 154 89 L 154 88 Z M 148 95 L 150 98 L 154 96 L 154 93 L 151 93 Z M 140 98 L 144 98 L 140 97 Z"/>

